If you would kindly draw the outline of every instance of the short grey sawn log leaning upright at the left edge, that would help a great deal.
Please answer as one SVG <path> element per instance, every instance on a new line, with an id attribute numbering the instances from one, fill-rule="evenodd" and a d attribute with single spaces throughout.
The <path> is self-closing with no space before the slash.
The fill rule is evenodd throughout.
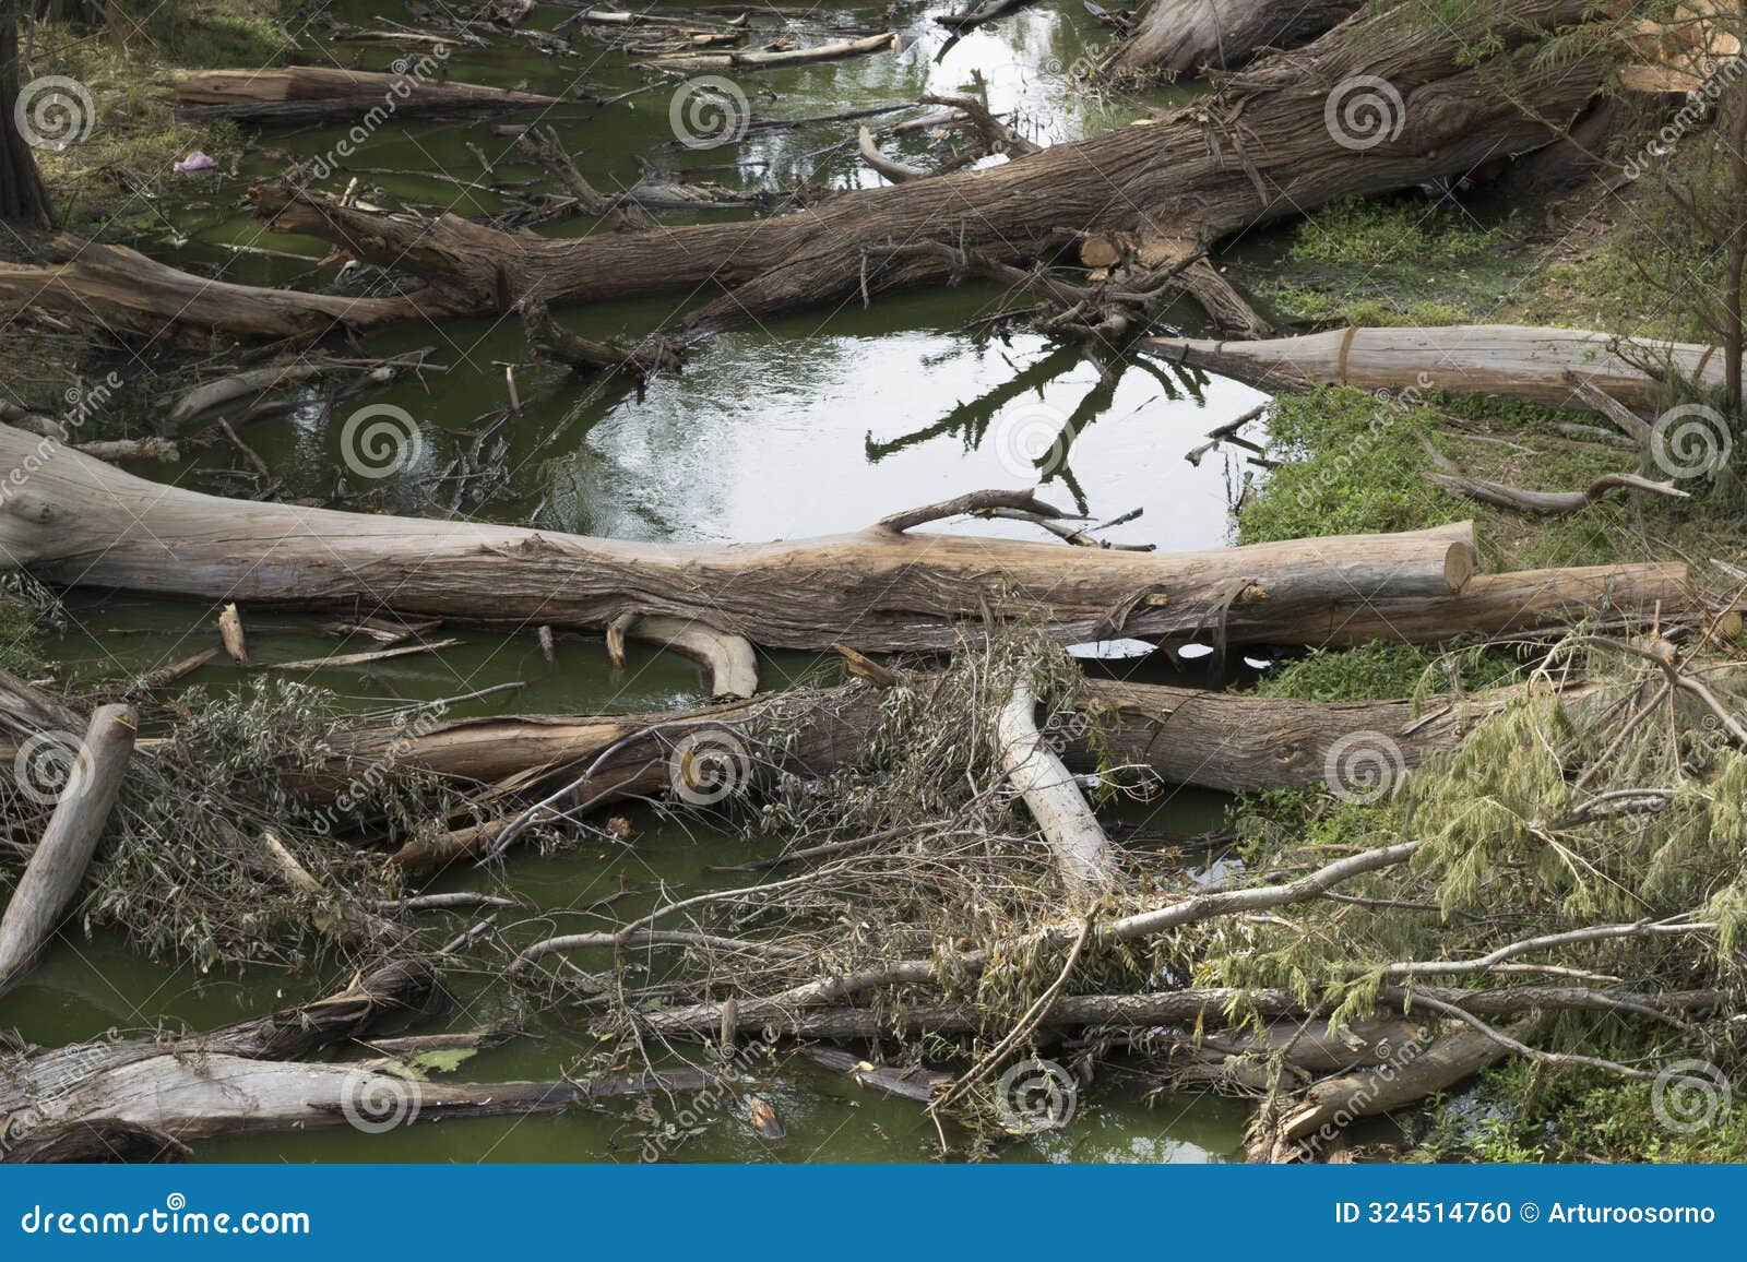
<path id="1" fill-rule="evenodd" d="M 0 995 L 17 986 L 86 879 L 121 794 L 133 738 L 128 706 L 98 706 L 79 750 L 63 750 L 66 783 L 0 918 Z"/>

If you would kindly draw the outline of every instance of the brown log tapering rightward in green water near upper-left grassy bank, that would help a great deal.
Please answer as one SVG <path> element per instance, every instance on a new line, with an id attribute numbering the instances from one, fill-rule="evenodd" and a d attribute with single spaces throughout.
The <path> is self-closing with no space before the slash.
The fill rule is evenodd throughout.
<path id="1" fill-rule="evenodd" d="M 454 80 L 388 75 L 339 66 L 283 70 L 185 70 L 176 75 L 182 117 L 225 115 L 252 122 L 314 122 L 353 119 L 372 108 L 411 114 L 491 114 L 494 110 L 561 105 L 557 96 L 517 93 Z"/>

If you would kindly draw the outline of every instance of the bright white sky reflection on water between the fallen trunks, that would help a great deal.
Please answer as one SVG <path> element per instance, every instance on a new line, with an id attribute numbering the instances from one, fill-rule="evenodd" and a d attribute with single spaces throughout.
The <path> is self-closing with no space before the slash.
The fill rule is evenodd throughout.
<path id="1" fill-rule="evenodd" d="M 1012 346 L 905 332 L 772 341 L 720 337 L 697 364 L 625 399 L 580 440 L 559 468 L 554 507 L 578 530 L 617 537 L 694 540 L 795 538 L 867 526 L 903 507 L 964 491 L 1039 486 L 1039 498 L 1074 510 L 1074 486 L 1099 519 L 1143 509 L 1102 538 L 1157 542 L 1172 551 L 1230 538 L 1226 482 L 1218 460 L 1200 468 L 1183 454 L 1226 416 L 1261 395 L 1212 379 L 1204 400 L 1170 400 L 1151 374 L 1129 369 L 1101 414 L 1083 423 L 1060 468 L 1041 481 L 999 440 L 1003 418 L 1057 416 L 1062 423 L 1099 388 L 1085 362 L 999 407 L 973 442 L 975 418 L 942 430 L 970 404 L 1038 365 L 1041 337 Z M 914 439 L 912 446 L 900 446 Z M 1048 538 L 1005 521 L 957 523 L 1015 538 Z"/>

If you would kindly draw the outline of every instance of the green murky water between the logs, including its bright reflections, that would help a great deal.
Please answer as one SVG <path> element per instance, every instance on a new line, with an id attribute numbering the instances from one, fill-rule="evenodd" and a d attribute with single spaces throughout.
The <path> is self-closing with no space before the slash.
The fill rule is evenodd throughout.
<path id="1" fill-rule="evenodd" d="M 407 14 L 388 16 L 411 21 Z M 797 14 L 802 44 L 849 37 L 887 24 L 905 33 L 901 52 L 875 54 L 774 73 L 739 77 L 755 117 L 811 117 L 847 108 L 914 101 L 926 91 L 959 93 L 978 72 L 996 110 L 1020 108 L 1022 129 L 1043 140 L 1071 140 L 1129 122 L 1137 103 L 1104 100 L 1071 75 L 1074 63 L 1095 56 L 1108 35 L 1076 0 L 1052 0 L 959 40 L 949 40 L 931 14 L 945 5 L 879 9 L 762 9 Z M 346 0 L 330 12 L 376 26 L 376 0 Z M 554 28 L 570 10 L 542 5 L 524 28 Z M 811 16 L 809 16 L 811 14 Z M 769 21 L 762 17 L 760 21 Z M 386 70 L 402 51 L 377 45 L 325 44 L 320 26 L 299 33 L 299 59 Z M 575 35 L 575 31 L 571 31 Z M 632 58 L 583 38 L 571 56 L 543 56 L 531 42 L 501 37 L 491 49 L 454 49 L 452 79 L 522 86 L 568 94 L 583 84 L 596 98 L 632 93 L 648 82 Z M 648 171 L 664 180 L 708 178 L 746 189 L 784 187 L 797 180 L 851 187 L 879 180 L 854 152 L 854 122 L 832 122 L 753 133 L 744 143 L 694 150 L 674 143 L 669 119 L 673 86 L 641 91 L 611 105 L 577 101 L 552 110 L 547 121 L 578 156 L 601 189 L 631 185 Z M 1167 103 L 1160 98 L 1155 103 Z M 903 115 L 893 115 L 903 117 Z M 360 196 L 374 205 L 419 205 L 456 213 L 503 210 L 489 178 L 538 182 L 538 168 L 519 161 L 512 142 L 493 135 L 510 119 L 470 122 L 390 124 L 369 136 L 321 187 L 341 191 L 356 177 Z M 522 121 L 519 115 L 515 121 Z M 879 119 L 875 119 L 879 122 Z M 150 250 L 196 269 L 224 269 L 225 278 L 253 283 L 297 280 L 304 287 L 334 280 L 318 269 L 325 246 L 299 238 L 262 234 L 241 208 L 250 180 L 281 170 L 285 156 L 328 152 L 344 126 L 260 133 L 243 157 L 239 178 L 185 180 L 169 213 L 187 234 L 180 250 Z M 479 152 L 475 152 L 475 147 Z M 264 150 L 276 150 L 273 154 Z M 928 161 L 922 142 L 887 142 L 886 152 L 912 163 Z M 231 156 L 215 154 L 220 166 Z M 646 166 L 645 166 L 646 164 Z M 697 211 L 695 218 L 742 211 Z M 664 215 L 683 222 L 688 215 Z M 578 220 L 545 225 L 545 232 L 582 231 Z M 304 255 L 288 259 L 227 246 L 260 246 Z M 704 297 L 704 295 L 701 295 Z M 246 442 L 264 458 L 285 498 L 318 498 L 351 509 L 418 516 L 458 516 L 528 523 L 549 530 L 625 538 L 756 540 L 856 528 L 898 507 L 945 498 L 984 486 L 1017 486 L 1038 479 L 1038 458 L 1066 453 L 1043 479 L 1043 498 L 1078 505 L 1101 519 L 1143 509 L 1144 514 L 1109 533 L 1122 542 L 1157 542 L 1165 549 L 1218 547 L 1228 540 L 1228 496 L 1242 470 L 1219 458 L 1193 468 L 1183 453 L 1200 435 L 1251 407 L 1260 395 L 1212 379 L 1198 388 L 1143 367 L 1113 381 L 1071 353 L 1052 351 L 1029 332 L 978 343 L 964 329 L 994 309 L 994 288 L 952 290 L 880 299 L 870 309 L 809 311 L 763 327 L 720 336 L 697 348 L 680 374 L 646 388 L 622 379 L 577 379 L 528 364 L 528 348 L 514 322 L 452 320 L 405 325 L 367 339 L 370 353 L 432 348 L 432 360 L 449 365 L 423 383 L 405 381 L 342 400 L 328 409 L 314 392 L 293 411 L 250 421 Z M 603 304 L 566 309 L 559 318 L 580 332 L 604 337 L 641 336 L 685 308 L 674 301 Z M 1190 311 L 1172 313 L 1195 327 Z M 515 365 L 521 413 L 505 418 L 505 364 Z M 121 365 L 148 395 L 154 364 Z M 388 479 L 363 479 L 346 470 L 339 421 L 365 404 L 404 407 L 421 430 L 418 463 Z M 138 418 L 108 416 L 105 428 L 142 432 Z M 211 435 L 211 421 L 196 421 L 189 435 Z M 491 495 L 454 496 L 444 479 L 473 449 L 501 470 Z M 1041 440 L 1039 440 L 1039 435 Z M 501 439 L 501 449 L 496 449 Z M 253 482 L 234 447 L 215 440 L 183 465 L 138 465 L 147 477 L 175 479 L 217 493 L 252 493 Z M 1012 523 L 956 524 L 1029 537 Z M 68 600 L 70 628 L 51 652 L 70 680 L 124 678 L 178 661 L 211 641 L 211 610 L 199 603 L 145 600 L 133 594 L 77 593 Z M 356 652 L 369 643 L 341 643 L 320 629 L 321 619 L 259 612 L 246 617 L 259 661 Z M 358 669 L 320 671 L 313 682 L 335 689 L 360 708 L 398 699 L 449 697 L 496 683 L 521 682 L 514 692 L 468 703 L 458 713 L 578 713 L 655 710 L 697 703 L 702 683 L 685 659 L 638 645 L 624 669 L 615 669 L 599 640 L 561 638 L 557 666 L 549 666 L 533 636 L 445 629 L 461 645 Z M 805 669 L 811 657 L 783 654 L 762 662 L 767 687 L 779 687 Z M 1116 664 L 1108 668 L 1116 669 Z M 1153 664 L 1137 666 L 1162 676 Z M 189 685 L 232 687 L 243 671 L 211 664 Z M 1188 837 L 1218 822 L 1219 801 L 1181 792 L 1150 815 L 1132 816 L 1148 834 Z M 744 860 L 742 844 L 695 823 L 680 827 L 653 816 L 638 820 L 632 846 L 583 842 L 559 856 L 512 855 L 505 884 L 536 909 L 573 909 L 620 888 L 639 891 L 617 904 L 620 916 L 653 890 L 697 890 L 723 877 L 716 867 Z M 472 872 L 444 877 L 440 888 L 465 888 Z M 744 877 L 741 877 L 744 879 Z M 440 914 L 433 912 L 433 923 Z M 533 912 L 529 912 L 533 916 Z M 459 918 L 451 918 L 456 928 Z M 603 928 L 604 921 L 566 916 L 503 925 L 510 937 L 535 937 L 552 923 Z M 585 967 L 592 961 L 582 960 Z M 604 963 L 604 961 L 601 961 Z M 58 944 L 30 984 L 0 1002 L 0 1026 L 26 1038 L 58 1044 L 108 1028 L 157 1024 L 159 1017 L 210 1026 L 278 1007 L 325 988 L 327 977 L 285 977 L 257 970 L 245 977 L 196 975 L 189 968 L 154 965 L 129 954 L 101 933 Z M 459 979 L 451 1030 L 507 1021 L 501 988 Z M 433 1026 L 421 1026 L 428 1031 Z M 583 1038 L 561 1021 L 545 1021 L 528 1037 L 489 1049 L 463 1068 L 470 1080 L 549 1078 L 575 1063 Z M 788 1138 L 758 1140 L 737 1106 L 709 1113 L 701 1134 L 667 1155 L 676 1161 L 912 1161 L 936 1152 L 933 1124 L 919 1106 L 846 1085 L 795 1057 L 753 1066 L 758 1087 L 777 1110 Z M 1143 1073 L 1108 1071 L 1083 1094 L 1080 1113 L 1064 1131 L 1029 1136 L 1003 1148 L 1010 1161 L 1209 1161 L 1239 1150 L 1242 1106 L 1184 1096 L 1150 1096 Z M 599 1112 L 557 1117 L 445 1122 L 365 1136 L 348 1127 L 269 1134 L 204 1143 L 204 1161 L 636 1161 L 650 1126 L 648 1106 L 618 1103 Z M 667 1105 L 659 1105 L 664 1115 Z"/>

